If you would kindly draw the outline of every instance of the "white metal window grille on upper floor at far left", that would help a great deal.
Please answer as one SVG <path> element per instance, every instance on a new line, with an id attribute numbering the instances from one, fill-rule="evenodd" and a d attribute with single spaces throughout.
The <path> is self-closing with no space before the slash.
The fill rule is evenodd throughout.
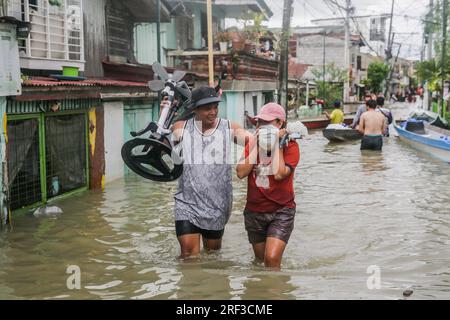
<path id="1" fill-rule="evenodd" d="M 8 11 L 10 16 L 31 23 L 28 38 L 19 43 L 21 58 L 25 58 L 22 60 L 29 60 L 21 61 L 22 67 L 48 70 L 59 70 L 61 65 L 82 67 L 82 0 L 10 0 Z M 31 60 L 41 63 L 33 67 Z"/>

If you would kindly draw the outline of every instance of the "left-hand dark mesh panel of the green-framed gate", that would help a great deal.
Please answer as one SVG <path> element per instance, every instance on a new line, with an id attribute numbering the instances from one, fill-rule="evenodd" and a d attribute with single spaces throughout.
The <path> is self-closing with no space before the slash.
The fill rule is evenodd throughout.
<path id="1" fill-rule="evenodd" d="M 8 121 L 8 173 L 11 209 L 19 209 L 42 200 L 39 121 Z"/>

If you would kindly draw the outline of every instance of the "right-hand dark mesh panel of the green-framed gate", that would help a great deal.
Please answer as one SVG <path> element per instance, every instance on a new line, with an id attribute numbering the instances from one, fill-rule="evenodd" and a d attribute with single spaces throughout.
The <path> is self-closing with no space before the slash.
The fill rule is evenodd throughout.
<path id="1" fill-rule="evenodd" d="M 85 187 L 86 115 L 47 117 L 45 142 L 47 197 Z"/>

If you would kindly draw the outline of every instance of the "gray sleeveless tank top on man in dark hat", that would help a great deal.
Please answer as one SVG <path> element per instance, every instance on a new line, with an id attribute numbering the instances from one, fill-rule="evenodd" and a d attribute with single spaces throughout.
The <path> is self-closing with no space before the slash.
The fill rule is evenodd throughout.
<path id="1" fill-rule="evenodd" d="M 175 194 L 175 220 L 189 220 L 205 230 L 222 230 L 230 217 L 233 188 L 230 163 L 231 130 L 219 119 L 213 133 L 205 135 L 189 119 L 181 147 L 183 174 Z"/>

